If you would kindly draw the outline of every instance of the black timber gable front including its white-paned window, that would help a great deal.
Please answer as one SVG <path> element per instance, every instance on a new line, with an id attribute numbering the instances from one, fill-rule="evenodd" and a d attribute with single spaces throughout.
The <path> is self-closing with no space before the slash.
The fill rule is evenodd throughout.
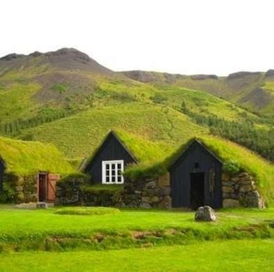
<path id="1" fill-rule="evenodd" d="M 95 183 L 123 183 L 122 174 L 118 172 L 123 172 L 129 163 L 137 163 L 136 158 L 111 131 L 83 170 Z"/>

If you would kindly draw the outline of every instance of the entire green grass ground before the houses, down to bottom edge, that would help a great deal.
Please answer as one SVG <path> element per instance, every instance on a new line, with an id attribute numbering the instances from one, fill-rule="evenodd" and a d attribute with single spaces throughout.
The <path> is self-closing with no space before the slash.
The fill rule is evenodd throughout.
<path id="1" fill-rule="evenodd" d="M 274 209 L 98 211 L 0 206 L 0 271 L 273 271 Z"/>

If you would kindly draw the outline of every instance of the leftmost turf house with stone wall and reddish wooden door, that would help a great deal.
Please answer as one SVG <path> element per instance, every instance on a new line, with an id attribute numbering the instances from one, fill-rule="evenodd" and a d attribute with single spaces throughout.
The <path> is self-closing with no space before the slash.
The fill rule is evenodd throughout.
<path id="1" fill-rule="evenodd" d="M 70 172 L 55 146 L 0 137 L 1 202 L 54 202 L 56 181 Z"/>

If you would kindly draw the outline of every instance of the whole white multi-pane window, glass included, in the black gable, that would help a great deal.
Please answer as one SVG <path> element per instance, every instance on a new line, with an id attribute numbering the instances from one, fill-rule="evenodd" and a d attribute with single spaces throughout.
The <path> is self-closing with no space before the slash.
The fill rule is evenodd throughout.
<path id="1" fill-rule="evenodd" d="M 123 184 L 124 160 L 103 160 L 102 161 L 102 183 Z"/>

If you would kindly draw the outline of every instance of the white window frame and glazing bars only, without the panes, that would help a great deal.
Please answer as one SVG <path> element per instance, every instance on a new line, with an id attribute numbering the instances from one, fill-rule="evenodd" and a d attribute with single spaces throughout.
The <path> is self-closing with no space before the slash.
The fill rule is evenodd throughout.
<path id="1" fill-rule="evenodd" d="M 121 165 L 121 168 L 118 169 L 118 164 Z M 109 165 L 108 176 L 106 175 L 106 165 Z M 115 165 L 113 169 L 112 166 Z M 118 171 L 121 171 L 121 174 L 118 174 Z M 112 171 L 115 171 L 115 174 L 112 174 Z M 102 160 L 102 184 L 124 184 L 124 176 L 122 175 L 124 172 L 124 160 Z M 112 181 L 113 176 L 115 177 L 115 181 Z M 121 181 L 118 181 L 118 176 L 121 177 Z M 106 177 L 109 178 L 109 181 L 106 181 Z"/>

